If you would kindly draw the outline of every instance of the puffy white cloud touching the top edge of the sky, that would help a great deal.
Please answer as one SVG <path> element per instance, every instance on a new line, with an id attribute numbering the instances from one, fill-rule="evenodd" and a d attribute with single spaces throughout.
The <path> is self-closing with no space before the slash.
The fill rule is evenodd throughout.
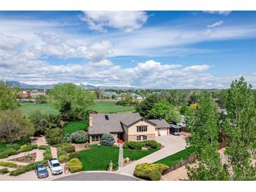
<path id="1" fill-rule="evenodd" d="M 132 32 L 147 22 L 144 11 L 83 11 L 81 20 L 88 23 L 89 29 L 107 32 L 107 27 Z"/>

